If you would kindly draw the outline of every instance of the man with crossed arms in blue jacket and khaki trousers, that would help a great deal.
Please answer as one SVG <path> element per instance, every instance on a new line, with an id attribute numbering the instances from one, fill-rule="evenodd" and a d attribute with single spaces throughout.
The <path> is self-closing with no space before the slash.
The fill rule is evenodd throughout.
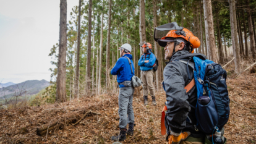
<path id="1" fill-rule="evenodd" d="M 148 89 L 150 90 L 150 95 L 152 97 L 153 105 L 156 105 L 155 97 L 155 85 L 153 83 L 154 72 L 153 67 L 155 66 L 156 57 L 152 53 L 152 46 L 150 43 L 145 43 L 142 45 L 142 57 L 138 62 L 140 70 L 142 70 L 142 87 L 143 87 L 143 98 L 144 105 L 148 105 Z"/>

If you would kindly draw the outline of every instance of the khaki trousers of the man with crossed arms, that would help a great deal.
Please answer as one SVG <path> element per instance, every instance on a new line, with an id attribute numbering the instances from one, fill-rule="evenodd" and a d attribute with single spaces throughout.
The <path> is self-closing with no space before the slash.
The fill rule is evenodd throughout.
<path id="1" fill-rule="evenodd" d="M 154 72 L 142 71 L 142 87 L 143 87 L 143 96 L 148 95 L 148 89 L 150 90 L 150 95 L 155 96 L 155 85 L 153 83 Z"/>

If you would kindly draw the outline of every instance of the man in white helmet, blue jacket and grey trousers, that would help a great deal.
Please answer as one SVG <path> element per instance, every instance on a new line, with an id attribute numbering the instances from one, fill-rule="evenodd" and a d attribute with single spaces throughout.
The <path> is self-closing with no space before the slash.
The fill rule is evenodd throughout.
<path id="1" fill-rule="evenodd" d="M 120 48 L 120 58 L 116 62 L 116 65 L 111 70 L 111 75 L 117 75 L 117 82 L 119 84 L 119 96 L 118 96 L 118 113 L 119 113 L 119 128 L 120 133 L 116 137 L 111 137 L 114 141 L 122 141 L 126 139 L 127 135 L 134 134 L 134 110 L 132 109 L 132 99 L 134 95 L 134 87 L 132 87 L 132 77 L 134 76 L 134 62 L 132 61 L 132 47 L 130 44 L 123 44 Z M 132 70 L 129 64 L 129 60 L 132 63 Z M 128 115 L 128 117 L 127 117 Z M 129 129 L 126 129 L 126 125 L 129 124 Z"/>

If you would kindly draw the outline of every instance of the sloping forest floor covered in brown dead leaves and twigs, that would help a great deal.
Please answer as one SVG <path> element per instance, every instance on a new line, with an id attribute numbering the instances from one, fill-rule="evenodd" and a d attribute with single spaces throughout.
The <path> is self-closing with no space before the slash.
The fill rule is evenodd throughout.
<path id="1" fill-rule="evenodd" d="M 231 112 L 224 126 L 224 137 L 228 143 L 256 143 L 256 74 L 247 70 L 231 79 L 235 76 L 232 69 L 227 68 Z M 144 106 L 142 95 L 134 96 L 135 133 L 122 143 L 166 143 L 166 136 L 160 134 L 161 110 L 166 101 L 164 92 L 157 93 L 156 100 L 157 106 L 152 105 L 151 98 L 149 105 Z M 117 93 L 40 107 L 1 109 L 0 144 L 113 143 L 110 137 L 119 132 L 117 110 Z M 85 116 L 88 111 L 95 113 Z M 55 122 L 62 125 L 59 129 L 49 129 Z M 47 135 L 36 135 L 36 129 L 45 126 Z"/>

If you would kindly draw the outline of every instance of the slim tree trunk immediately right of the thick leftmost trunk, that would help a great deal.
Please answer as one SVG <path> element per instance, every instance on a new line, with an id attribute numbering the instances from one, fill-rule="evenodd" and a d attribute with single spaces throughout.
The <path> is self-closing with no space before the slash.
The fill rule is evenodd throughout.
<path id="1" fill-rule="evenodd" d="M 79 16 L 78 16 L 78 29 L 77 29 L 77 66 L 75 70 L 75 98 L 79 93 L 78 83 L 79 83 L 79 64 L 80 64 L 80 20 L 81 20 L 81 0 L 79 0 Z"/>

